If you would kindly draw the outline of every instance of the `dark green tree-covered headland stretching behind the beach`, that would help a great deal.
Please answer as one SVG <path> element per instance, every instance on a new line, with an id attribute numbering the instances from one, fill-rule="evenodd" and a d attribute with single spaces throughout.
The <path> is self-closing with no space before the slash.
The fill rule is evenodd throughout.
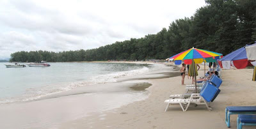
<path id="1" fill-rule="evenodd" d="M 196 10 L 190 18 L 177 19 L 157 34 L 90 50 L 20 51 L 11 54 L 10 61 L 166 59 L 191 47 L 220 52 L 225 56 L 256 40 L 255 0 L 205 0 L 205 3 L 207 5 Z"/>

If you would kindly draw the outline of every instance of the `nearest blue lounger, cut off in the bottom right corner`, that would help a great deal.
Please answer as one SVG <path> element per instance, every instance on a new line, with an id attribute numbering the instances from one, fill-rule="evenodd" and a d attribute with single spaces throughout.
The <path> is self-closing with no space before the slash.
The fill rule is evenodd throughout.
<path id="1" fill-rule="evenodd" d="M 256 126 L 256 115 L 238 115 L 237 129 L 242 129 L 244 125 Z"/>

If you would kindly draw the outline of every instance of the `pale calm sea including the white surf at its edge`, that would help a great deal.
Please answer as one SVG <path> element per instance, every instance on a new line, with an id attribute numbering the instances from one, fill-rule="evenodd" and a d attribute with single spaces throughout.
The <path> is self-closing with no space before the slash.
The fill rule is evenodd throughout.
<path id="1" fill-rule="evenodd" d="M 116 82 L 148 72 L 134 63 L 49 63 L 49 67 L 6 68 L 0 63 L 0 104 L 26 102 L 76 87 Z M 26 63 L 24 64 L 26 65 Z"/>

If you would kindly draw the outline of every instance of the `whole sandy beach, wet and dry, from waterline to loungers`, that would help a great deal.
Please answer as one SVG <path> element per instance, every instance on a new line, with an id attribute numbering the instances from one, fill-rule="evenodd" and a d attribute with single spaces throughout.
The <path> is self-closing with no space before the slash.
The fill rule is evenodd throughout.
<path id="1" fill-rule="evenodd" d="M 128 63 L 128 62 L 127 62 Z M 147 62 L 148 63 L 148 62 Z M 163 65 L 163 63 L 160 63 Z M 166 63 L 171 65 L 171 63 Z M 171 67 L 164 67 L 166 70 Z M 172 67 L 173 68 L 173 67 Z M 252 81 L 252 69 L 222 70 L 220 86 L 221 93 L 211 103 L 209 111 L 204 105 L 194 107 L 183 112 L 179 105 L 171 105 L 164 112 L 164 100 L 173 94 L 185 93 L 185 86 L 181 85 L 179 66 L 174 72 L 165 72 L 157 77 L 154 74 L 142 75 L 140 78 L 123 79 L 130 82 L 126 89 L 118 89 L 117 85 L 106 86 L 97 91 L 99 96 L 88 98 L 88 91 L 95 89 L 78 88 L 70 93 L 62 93 L 63 97 L 48 96 L 35 102 L 13 103 L 0 106 L 1 128 L 227 128 L 225 125 L 225 107 L 232 105 L 256 105 L 256 82 Z M 204 75 L 204 66 L 199 70 L 199 77 Z M 154 76 L 152 76 L 154 75 Z M 140 85 L 134 85 L 134 83 Z M 185 84 L 192 80 L 185 78 Z M 99 89 L 100 89 L 99 88 Z M 118 91 L 119 90 L 119 91 Z M 134 94 L 125 96 L 120 93 L 131 90 Z M 104 92 L 103 92 L 104 91 Z M 111 91 L 118 91 L 109 94 Z M 136 98 L 134 93 L 143 93 L 145 97 Z M 94 92 L 94 91 L 93 91 Z M 65 95 L 67 94 L 67 95 Z M 148 96 L 148 97 L 147 97 Z M 135 97 L 135 98 L 134 98 Z M 52 99 L 49 99 L 52 98 Z M 113 101 L 109 99 L 113 99 Z M 136 102 L 129 103 L 136 99 Z M 114 103 L 118 100 L 118 103 Z M 90 103 L 88 103 L 90 102 Z M 101 103 L 111 108 L 100 107 Z M 128 104 L 127 104 L 128 103 Z M 99 105 L 95 109 L 95 105 Z M 123 105 L 118 107 L 118 105 Z M 72 119 L 72 116 L 81 116 Z M 74 118 L 76 118 L 74 117 Z M 54 118 L 54 119 L 53 119 Z M 231 116 L 231 128 L 236 128 L 237 115 Z M 28 123 L 29 121 L 29 123 Z M 38 125 L 40 121 L 40 125 Z M 26 125 L 24 125 L 26 123 Z M 44 126 L 45 125 L 45 126 Z M 253 128 L 253 126 L 246 126 Z"/>

